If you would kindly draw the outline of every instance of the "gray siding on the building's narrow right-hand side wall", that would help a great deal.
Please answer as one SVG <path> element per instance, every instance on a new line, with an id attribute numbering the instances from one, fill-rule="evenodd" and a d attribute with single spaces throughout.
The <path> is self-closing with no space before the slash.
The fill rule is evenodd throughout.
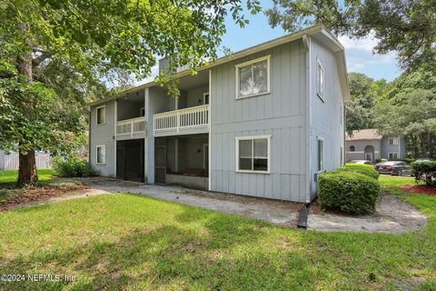
<path id="1" fill-rule="evenodd" d="M 327 171 L 334 170 L 341 163 L 341 146 L 344 145 L 344 123 L 340 120 L 343 98 L 336 56 L 332 51 L 312 39 L 311 58 L 311 198 L 314 198 L 317 191 L 315 174 L 318 173 L 318 136 L 321 136 L 324 140 L 324 169 Z M 321 62 L 324 68 L 323 102 L 316 92 L 317 60 Z"/>

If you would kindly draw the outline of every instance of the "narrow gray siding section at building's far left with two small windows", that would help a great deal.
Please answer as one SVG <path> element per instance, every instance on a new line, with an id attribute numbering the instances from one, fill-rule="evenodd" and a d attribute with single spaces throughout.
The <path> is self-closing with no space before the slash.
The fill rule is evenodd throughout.
<path id="1" fill-rule="evenodd" d="M 103 105 L 106 106 L 106 123 L 96 125 L 97 107 L 91 107 L 91 131 L 90 131 L 90 162 L 94 170 L 100 176 L 115 176 L 114 159 L 114 129 L 115 129 L 115 100 L 110 100 Z M 96 146 L 105 146 L 106 163 L 105 165 L 96 164 Z"/>

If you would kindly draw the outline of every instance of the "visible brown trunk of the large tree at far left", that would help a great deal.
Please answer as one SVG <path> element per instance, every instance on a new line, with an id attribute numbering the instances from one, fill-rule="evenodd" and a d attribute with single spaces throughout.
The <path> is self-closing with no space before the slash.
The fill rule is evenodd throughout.
<path id="1" fill-rule="evenodd" d="M 23 33 L 28 35 L 28 26 L 20 25 Z M 26 37 L 27 45 L 32 46 L 29 38 Z M 25 55 L 22 55 L 20 59 L 18 59 L 18 70 L 20 74 L 25 75 L 26 81 L 28 83 L 33 82 L 33 67 L 32 67 L 32 54 L 31 52 L 26 52 Z M 28 111 L 27 113 L 31 113 L 34 110 L 34 100 L 29 97 L 28 102 Z M 36 182 L 38 182 L 38 176 L 36 173 L 36 160 L 35 160 L 35 150 L 26 150 L 26 155 L 24 155 L 20 151 L 19 155 L 19 166 L 18 166 L 18 186 L 30 185 L 35 186 Z"/>

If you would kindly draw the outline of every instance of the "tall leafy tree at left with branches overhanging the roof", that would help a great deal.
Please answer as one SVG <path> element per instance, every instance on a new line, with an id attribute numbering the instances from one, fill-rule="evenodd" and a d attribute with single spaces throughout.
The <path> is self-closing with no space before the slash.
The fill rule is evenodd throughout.
<path id="1" fill-rule="evenodd" d="M 260 11 L 257 0 L 244 4 L 253 14 Z M 171 59 L 163 81 L 180 65 L 194 74 L 216 57 L 228 12 L 239 25 L 247 23 L 242 5 L 239 0 L 0 2 L 0 18 L 7 19 L 0 23 L 0 146 L 19 152 L 18 183 L 36 183 L 35 149 L 55 148 L 80 127 L 72 115 L 65 120 L 48 114 L 62 107 L 55 102 L 62 88 L 51 83 L 50 68 L 70 69 L 84 80 L 114 69 L 144 78 L 161 55 Z"/>

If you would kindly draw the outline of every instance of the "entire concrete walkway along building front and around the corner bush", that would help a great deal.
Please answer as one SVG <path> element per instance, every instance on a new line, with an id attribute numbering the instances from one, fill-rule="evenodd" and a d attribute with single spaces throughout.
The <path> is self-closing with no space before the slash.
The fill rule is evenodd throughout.
<path id="1" fill-rule="evenodd" d="M 81 178 L 95 193 L 134 193 L 199 206 L 224 213 L 261 219 L 282 226 L 296 226 L 302 204 L 249 196 L 188 190 L 178 186 L 155 186 L 117 180 L 110 177 Z M 418 209 L 395 196 L 383 195 L 375 214 L 345 216 L 332 213 L 312 213 L 307 220 L 308 229 L 317 231 L 351 231 L 398 234 L 416 230 L 427 224 L 427 217 Z"/>

